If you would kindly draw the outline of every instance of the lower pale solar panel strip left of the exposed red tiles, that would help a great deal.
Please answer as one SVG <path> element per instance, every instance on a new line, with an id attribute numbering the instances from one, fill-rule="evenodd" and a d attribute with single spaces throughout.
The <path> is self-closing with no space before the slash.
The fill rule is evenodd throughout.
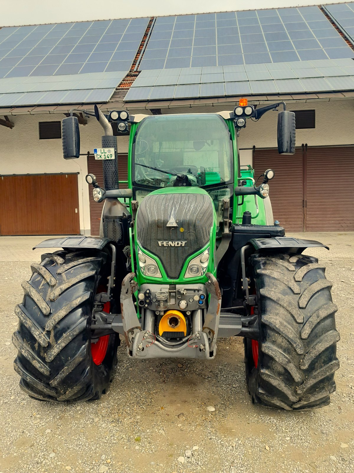
<path id="1" fill-rule="evenodd" d="M 0 79 L 0 106 L 108 102 L 126 71 Z"/>

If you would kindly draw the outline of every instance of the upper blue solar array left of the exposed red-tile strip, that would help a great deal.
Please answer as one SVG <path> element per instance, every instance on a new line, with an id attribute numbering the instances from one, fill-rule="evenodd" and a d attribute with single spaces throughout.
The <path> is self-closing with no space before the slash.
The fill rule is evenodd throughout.
<path id="1" fill-rule="evenodd" d="M 128 18 L 1 28 L 0 78 L 129 70 L 148 22 Z"/>

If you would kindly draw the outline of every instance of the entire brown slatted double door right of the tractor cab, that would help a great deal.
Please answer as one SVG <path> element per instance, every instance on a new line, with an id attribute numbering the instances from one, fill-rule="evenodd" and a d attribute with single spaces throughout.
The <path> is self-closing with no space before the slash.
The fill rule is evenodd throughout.
<path id="1" fill-rule="evenodd" d="M 274 219 L 287 231 L 353 231 L 354 147 L 296 148 L 293 156 L 256 149 L 256 178 L 275 170 L 270 182 Z"/>

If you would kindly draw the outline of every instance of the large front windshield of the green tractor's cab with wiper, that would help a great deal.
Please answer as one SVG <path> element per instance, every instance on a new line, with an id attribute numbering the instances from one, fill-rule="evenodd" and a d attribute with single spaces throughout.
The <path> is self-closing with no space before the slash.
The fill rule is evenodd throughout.
<path id="1" fill-rule="evenodd" d="M 135 185 L 169 187 L 177 174 L 187 175 L 193 186 L 228 184 L 232 165 L 230 132 L 217 114 L 147 117 L 135 133 Z"/>

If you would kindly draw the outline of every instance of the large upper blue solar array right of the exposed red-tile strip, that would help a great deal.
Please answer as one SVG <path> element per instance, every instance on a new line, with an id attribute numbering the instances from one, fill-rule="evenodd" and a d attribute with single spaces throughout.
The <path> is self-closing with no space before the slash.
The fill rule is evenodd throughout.
<path id="1" fill-rule="evenodd" d="M 139 70 L 354 57 L 319 7 L 157 18 Z"/>

